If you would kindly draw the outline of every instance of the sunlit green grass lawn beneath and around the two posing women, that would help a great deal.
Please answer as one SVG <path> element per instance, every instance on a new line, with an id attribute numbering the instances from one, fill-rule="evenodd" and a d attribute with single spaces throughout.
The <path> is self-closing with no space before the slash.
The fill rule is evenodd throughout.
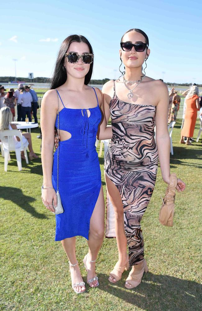
<path id="1" fill-rule="evenodd" d="M 201 171 L 202 145 L 180 145 L 181 121 L 173 130 L 174 155 L 171 172 L 186 182 L 184 193 L 176 194 L 174 227 L 158 221 L 160 194 L 166 185 L 158 169 L 156 186 L 142 219 L 145 258 L 149 272 L 134 290 L 127 290 L 124 281 L 108 281 L 109 272 L 117 261 L 115 239 L 104 239 L 96 271 L 99 287 L 76 295 L 71 288 L 69 267 L 60 242 L 54 241 L 55 217 L 41 202 L 41 160 L 22 162 L 17 169 L 15 153 L 11 153 L 8 171 L 0 156 L 1 272 L 0 310 L 65 311 L 65 310 L 126 310 L 126 311 L 197 311 L 202 309 L 201 269 Z M 199 130 L 197 120 L 194 138 Z M 32 130 L 34 151 L 40 154 L 39 128 Z M 100 158 L 102 181 L 103 156 Z M 86 282 L 82 259 L 87 243 L 77 238 L 77 258 Z"/>

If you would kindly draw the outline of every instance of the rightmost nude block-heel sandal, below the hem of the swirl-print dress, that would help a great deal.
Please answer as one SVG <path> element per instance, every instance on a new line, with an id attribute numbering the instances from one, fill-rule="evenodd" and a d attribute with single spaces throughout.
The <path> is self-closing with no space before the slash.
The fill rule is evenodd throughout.
<path id="1" fill-rule="evenodd" d="M 144 272 L 149 271 L 145 259 L 143 262 L 139 263 L 138 265 L 135 265 L 135 268 L 136 268 L 135 272 L 133 272 L 135 274 L 132 274 L 132 272 L 130 272 L 126 279 L 125 287 L 128 289 L 137 287 L 142 281 Z"/>

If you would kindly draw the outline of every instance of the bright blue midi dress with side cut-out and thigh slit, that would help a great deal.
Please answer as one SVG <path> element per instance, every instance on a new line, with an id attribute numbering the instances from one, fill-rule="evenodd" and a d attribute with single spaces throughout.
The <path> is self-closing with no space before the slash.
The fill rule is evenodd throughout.
<path id="1" fill-rule="evenodd" d="M 95 90 L 94 90 L 95 91 Z M 58 91 L 57 91 L 58 93 Z M 58 93 L 59 95 L 59 93 Z M 90 218 L 101 188 L 101 172 L 95 147 L 101 121 L 97 106 L 87 109 L 64 108 L 59 112 L 59 127 L 71 138 L 59 142 L 53 155 L 53 187 L 57 190 L 57 152 L 59 150 L 59 193 L 64 213 L 56 215 L 55 241 L 76 235 L 89 239 Z M 57 128 L 57 118 L 55 122 Z"/>

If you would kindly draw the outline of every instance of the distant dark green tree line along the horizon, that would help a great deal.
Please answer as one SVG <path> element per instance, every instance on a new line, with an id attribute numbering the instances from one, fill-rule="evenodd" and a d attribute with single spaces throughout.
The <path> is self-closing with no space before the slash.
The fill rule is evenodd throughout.
<path id="1" fill-rule="evenodd" d="M 28 78 L 23 78 L 23 77 L 0 77 L 0 82 L 2 83 L 8 83 L 8 82 L 15 82 L 15 80 L 17 80 L 17 83 L 20 82 L 35 82 L 35 83 L 49 83 L 50 79 L 46 78 L 46 77 L 36 77 L 32 80 L 28 79 Z M 110 79 L 105 78 L 105 79 L 100 79 L 100 80 L 96 80 L 96 79 L 92 79 L 90 80 L 91 84 L 100 84 L 103 85 L 105 84 L 107 81 L 109 81 Z M 172 86 L 177 86 L 177 85 L 181 85 L 181 86 L 191 86 L 192 83 L 175 83 L 175 82 L 165 82 L 167 85 L 172 85 Z M 196 83 L 197 84 L 197 83 Z M 197 84 L 197 86 L 202 86 L 202 84 Z"/>

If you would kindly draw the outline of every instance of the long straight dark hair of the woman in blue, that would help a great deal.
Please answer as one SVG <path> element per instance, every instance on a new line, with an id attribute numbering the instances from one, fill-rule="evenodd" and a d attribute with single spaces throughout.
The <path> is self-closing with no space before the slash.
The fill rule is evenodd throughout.
<path id="1" fill-rule="evenodd" d="M 63 70 L 64 57 L 65 57 L 65 53 L 69 49 L 69 46 L 72 42 L 84 42 L 84 43 L 86 43 L 90 49 L 90 53 L 93 54 L 92 46 L 91 46 L 90 42 L 88 41 L 88 39 L 86 39 L 84 36 L 82 36 L 82 35 L 70 35 L 69 37 L 64 39 L 64 41 L 61 44 L 58 55 L 57 55 L 57 60 L 55 63 L 55 69 L 53 72 L 53 77 L 52 77 L 52 79 L 49 80 L 50 90 L 56 89 L 57 87 L 64 84 L 67 80 L 66 69 Z M 89 84 L 91 76 L 92 76 L 92 72 L 93 72 L 93 62 L 92 62 L 92 64 L 90 64 L 89 72 L 85 75 L 85 81 L 84 81 L 85 85 Z"/>

